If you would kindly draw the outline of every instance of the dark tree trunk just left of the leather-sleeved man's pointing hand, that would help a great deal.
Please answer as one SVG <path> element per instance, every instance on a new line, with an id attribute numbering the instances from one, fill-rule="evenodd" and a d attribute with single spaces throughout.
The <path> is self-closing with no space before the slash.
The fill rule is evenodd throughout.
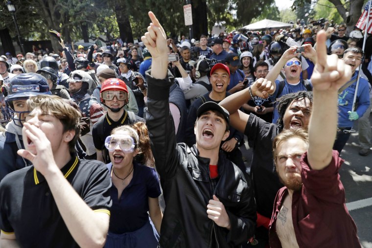
<path id="1" fill-rule="evenodd" d="M 126 6 L 130 5 L 126 5 L 123 0 L 116 1 L 115 14 L 120 38 L 123 42 L 128 43 L 133 42 L 133 34 Z"/>

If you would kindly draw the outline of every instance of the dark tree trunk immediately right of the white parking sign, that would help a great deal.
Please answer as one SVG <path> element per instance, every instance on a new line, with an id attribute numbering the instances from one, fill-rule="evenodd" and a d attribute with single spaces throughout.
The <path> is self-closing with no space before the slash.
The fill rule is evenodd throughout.
<path id="1" fill-rule="evenodd" d="M 196 40 L 199 40 L 202 34 L 208 36 L 207 1 L 191 0 L 191 6 L 193 36 Z"/>

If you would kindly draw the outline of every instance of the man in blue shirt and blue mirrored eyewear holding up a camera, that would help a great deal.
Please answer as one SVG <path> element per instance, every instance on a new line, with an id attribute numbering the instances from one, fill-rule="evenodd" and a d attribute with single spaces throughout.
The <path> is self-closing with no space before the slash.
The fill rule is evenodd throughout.
<path id="1" fill-rule="evenodd" d="M 302 52 L 302 55 L 315 63 L 316 51 L 312 48 L 311 44 L 302 45 L 302 47 L 304 47 L 305 49 L 304 52 Z M 287 49 L 283 53 L 283 56 L 281 56 L 281 58 L 279 59 L 278 63 L 274 66 L 273 69 L 269 71 L 266 76 L 267 80 L 272 82 L 275 81 L 275 92 L 270 97 L 273 102 L 275 102 L 276 99 L 278 99 L 279 97 L 289 93 L 294 93 L 302 90 L 312 90 L 311 81 L 301 79 L 302 63 L 297 57 L 300 54 L 296 51 L 297 48 L 297 46 L 291 46 L 289 49 Z M 284 68 L 283 70 L 285 79 L 283 81 L 275 80 L 281 72 L 282 68 Z M 276 108 L 276 104 L 274 104 L 273 123 L 277 123 L 278 119 L 278 109 Z"/>

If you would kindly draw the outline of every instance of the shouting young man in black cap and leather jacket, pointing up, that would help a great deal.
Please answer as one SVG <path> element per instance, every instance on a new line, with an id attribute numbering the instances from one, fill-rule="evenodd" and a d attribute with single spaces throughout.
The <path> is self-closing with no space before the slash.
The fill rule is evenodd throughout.
<path id="1" fill-rule="evenodd" d="M 168 48 L 163 27 L 152 12 L 142 41 L 152 54 L 146 120 L 165 200 L 161 247 L 240 248 L 254 234 L 256 204 L 251 181 L 220 152 L 229 136 L 229 113 L 214 102 L 197 111 L 196 145 L 176 143 L 169 114 Z M 227 78 L 217 68 L 218 80 Z"/>

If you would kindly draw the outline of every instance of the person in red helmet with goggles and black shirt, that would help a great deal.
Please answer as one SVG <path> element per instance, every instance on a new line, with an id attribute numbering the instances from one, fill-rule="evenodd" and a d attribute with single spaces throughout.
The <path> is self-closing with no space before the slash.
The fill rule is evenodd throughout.
<path id="1" fill-rule="evenodd" d="M 111 160 L 105 145 L 106 137 L 118 126 L 144 122 L 144 119 L 124 109 L 129 102 L 129 96 L 126 84 L 120 79 L 110 78 L 102 83 L 100 101 L 107 108 L 107 113 L 93 126 L 93 143 L 97 159 L 109 163 Z"/>

